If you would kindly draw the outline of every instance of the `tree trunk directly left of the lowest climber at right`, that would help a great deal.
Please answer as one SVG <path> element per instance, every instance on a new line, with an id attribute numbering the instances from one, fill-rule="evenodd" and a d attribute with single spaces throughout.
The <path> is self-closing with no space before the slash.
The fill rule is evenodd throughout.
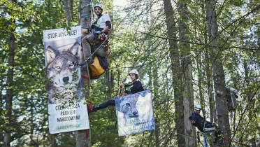
<path id="1" fill-rule="evenodd" d="M 180 13 L 179 31 L 180 40 L 188 41 L 187 32 L 189 31 L 187 21 L 187 4 L 186 1 L 178 2 L 178 12 Z M 190 50 L 188 43 L 180 43 L 182 52 L 182 95 L 183 95 L 183 116 L 185 125 L 185 144 L 186 146 L 196 146 L 196 129 L 192 127 L 189 116 L 194 112 L 194 96 L 192 85 L 192 66 L 190 59 Z M 193 138 L 193 139 L 192 139 Z"/>

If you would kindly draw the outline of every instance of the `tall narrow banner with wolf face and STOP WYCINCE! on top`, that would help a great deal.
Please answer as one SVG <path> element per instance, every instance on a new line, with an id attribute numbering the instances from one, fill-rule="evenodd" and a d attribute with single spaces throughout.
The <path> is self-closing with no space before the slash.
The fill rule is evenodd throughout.
<path id="1" fill-rule="evenodd" d="M 43 31 L 50 134 L 89 129 L 82 92 L 80 27 Z"/>

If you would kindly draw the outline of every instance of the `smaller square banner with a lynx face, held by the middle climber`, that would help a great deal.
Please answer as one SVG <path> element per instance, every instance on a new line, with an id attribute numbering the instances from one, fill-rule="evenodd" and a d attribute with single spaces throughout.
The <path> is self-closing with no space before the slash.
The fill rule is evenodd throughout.
<path id="1" fill-rule="evenodd" d="M 119 136 L 154 130 L 151 90 L 116 97 L 115 106 Z"/>

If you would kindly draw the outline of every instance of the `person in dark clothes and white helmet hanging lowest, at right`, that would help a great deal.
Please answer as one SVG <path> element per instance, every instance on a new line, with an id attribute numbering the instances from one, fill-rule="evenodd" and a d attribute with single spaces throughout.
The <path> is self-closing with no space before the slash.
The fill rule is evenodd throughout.
<path id="1" fill-rule="evenodd" d="M 196 126 L 201 132 L 204 132 L 204 126 L 205 128 L 215 127 L 215 141 L 213 142 L 213 144 L 217 144 L 217 146 L 224 146 L 225 144 L 223 143 L 223 141 L 219 141 L 219 139 L 221 138 L 221 132 L 216 123 L 211 123 L 204 120 L 204 118 L 199 115 L 199 113 L 201 113 L 201 105 L 198 104 L 195 106 L 195 112 L 192 113 L 192 116 L 190 117 L 190 120 L 192 120 L 192 125 Z"/>

